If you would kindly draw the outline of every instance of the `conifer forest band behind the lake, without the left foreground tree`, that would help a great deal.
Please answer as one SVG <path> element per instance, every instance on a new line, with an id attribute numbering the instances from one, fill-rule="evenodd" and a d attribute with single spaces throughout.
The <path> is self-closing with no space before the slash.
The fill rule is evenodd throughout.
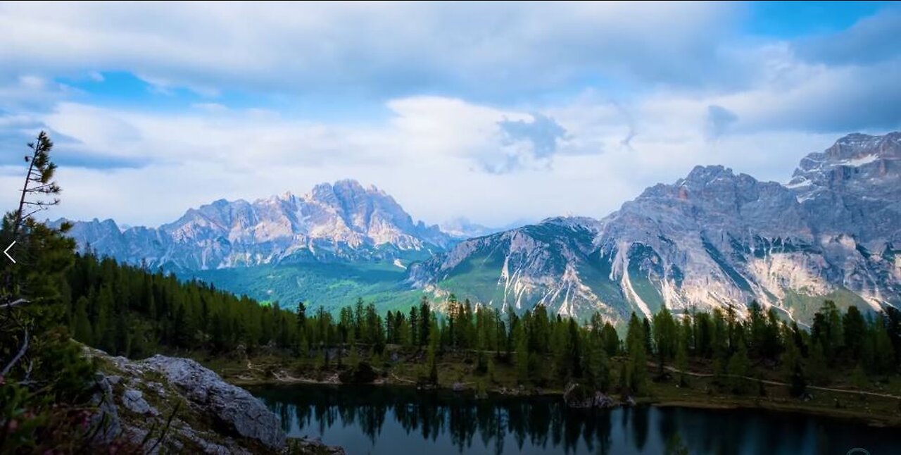
<path id="1" fill-rule="evenodd" d="M 538 305 L 523 314 L 458 301 L 433 309 L 423 296 L 408 312 L 381 314 L 359 299 L 332 314 L 298 303 L 295 311 L 259 305 L 199 281 L 179 281 L 161 271 L 123 266 L 92 254 L 76 255 L 61 299 L 78 341 L 133 358 L 159 350 L 280 350 L 318 369 L 359 364 L 360 355 L 382 356 L 388 345 L 422 352 L 421 380 L 434 381 L 446 354 L 466 353 L 478 373 L 496 362 L 514 366 L 521 384 L 547 387 L 578 379 L 598 390 L 642 394 L 654 374 L 690 370 L 703 360 L 733 393 L 746 392 L 757 368 L 778 369 L 800 396 L 805 385 L 829 384 L 835 370 L 856 380 L 896 373 L 901 353 L 901 313 L 856 306 L 842 312 L 825 301 L 809 329 L 778 317 L 756 302 L 746 314 L 734 306 L 674 313 L 666 306 L 651 318 L 632 314 L 621 338 L 595 314 L 582 323 Z M 338 348 L 338 349 L 336 349 Z M 622 358 L 613 370 L 610 359 Z"/>

